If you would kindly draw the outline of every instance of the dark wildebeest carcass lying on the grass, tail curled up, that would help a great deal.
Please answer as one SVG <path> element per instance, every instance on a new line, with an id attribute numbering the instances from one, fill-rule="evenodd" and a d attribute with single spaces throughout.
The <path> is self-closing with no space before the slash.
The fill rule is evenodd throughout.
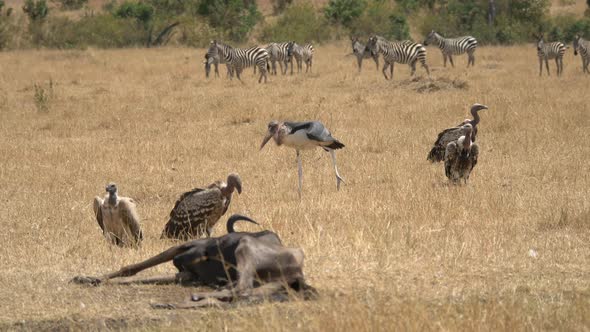
<path id="1" fill-rule="evenodd" d="M 287 300 L 289 294 L 298 294 L 305 299 L 315 297 L 315 289 L 304 280 L 303 250 L 283 246 L 278 235 L 271 231 L 235 232 L 234 224 L 239 220 L 257 224 L 236 214 L 227 221 L 226 235 L 185 242 L 119 271 L 102 277 L 77 276 L 72 282 L 95 286 L 105 283 L 180 283 L 224 287 L 220 291 L 194 294 L 191 301 L 182 304 L 153 305 L 157 308 L 193 308 L 263 298 Z M 174 276 L 111 280 L 131 277 L 168 261 L 172 261 L 179 271 Z"/>

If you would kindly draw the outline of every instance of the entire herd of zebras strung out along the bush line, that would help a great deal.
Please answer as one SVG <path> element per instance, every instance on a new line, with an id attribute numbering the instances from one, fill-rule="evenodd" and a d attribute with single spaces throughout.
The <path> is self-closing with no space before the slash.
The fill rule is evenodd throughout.
<path id="1" fill-rule="evenodd" d="M 475 50 L 477 49 L 477 40 L 472 36 L 463 36 L 458 38 L 445 38 L 432 30 L 426 36 L 422 44 L 411 40 L 389 41 L 381 36 L 373 35 L 368 39 L 367 44 L 362 44 L 357 37 L 351 37 L 353 54 L 357 58 L 358 70 L 361 71 L 364 59 L 372 58 L 379 69 L 379 55 L 383 57 L 383 76 L 385 79 L 393 78 L 394 64 L 407 64 L 411 68 L 411 74 L 416 72 L 416 63 L 420 62 L 426 73 L 430 75 L 430 69 L 426 62 L 426 48 L 428 44 L 436 45 L 443 56 L 443 64 L 446 67 L 447 59 L 452 67 L 454 55 L 467 54 L 467 67 L 475 66 Z M 575 36 L 574 55 L 580 54 L 582 58 L 582 70 L 590 74 L 588 66 L 590 65 L 590 41 Z M 563 55 L 568 47 L 561 42 L 546 43 L 543 35 L 537 37 L 537 56 L 539 58 L 539 76 L 543 73 L 543 62 L 549 75 L 549 60 L 555 59 L 557 66 L 557 75 L 563 72 Z M 299 45 L 294 41 L 283 43 L 270 43 L 265 47 L 254 46 L 248 49 L 234 48 L 227 44 L 213 40 L 205 55 L 205 74 L 209 77 L 211 66 L 215 67 L 215 76 L 219 76 L 218 65 L 227 65 L 227 75 L 231 79 L 235 73 L 238 80 L 241 81 L 240 75 L 246 67 L 254 66 L 254 73 L 258 69 L 260 77 L 258 82 L 267 81 L 267 73 L 277 75 L 277 63 L 279 64 L 281 74 L 285 75 L 291 66 L 293 74 L 293 63 L 296 63 L 297 72 L 303 71 L 305 63 L 305 72 L 312 70 L 313 63 L 313 45 L 308 43 Z M 389 76 L 387 69 L 389 68 Z"/>

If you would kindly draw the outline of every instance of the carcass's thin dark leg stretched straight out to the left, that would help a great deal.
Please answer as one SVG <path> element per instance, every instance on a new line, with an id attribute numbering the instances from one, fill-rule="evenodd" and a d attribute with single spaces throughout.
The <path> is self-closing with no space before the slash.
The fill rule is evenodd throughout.
<path id="1" fill-rule="evenodd" d="M 175 256 L 185 252 L 187 249 L 190 249 L 190 248 L 191 247 L 186 247 L 183 245 L 172 247 L 172 248 L 170 248 L 170 249 L 168 249 L 156 256 L 148 258 L 147 260 L 145 260 L 143 262 L 124 266 L 119 271 L 105 274 L 102 277 L 96 278 L 96 277 L 77 276 L 77 277 L 74 277 L 71 280 L 71 282 L 74 282 L 77 284 L 99 285 L 103 282 L 108 281 L 109 279 L 133 276 L 143 270 L 149 269 L 150 267 L 154 267 L 156 265 L 160 265 L 162 263 L 171 261 L 172 259 L 174 259 Z"/>

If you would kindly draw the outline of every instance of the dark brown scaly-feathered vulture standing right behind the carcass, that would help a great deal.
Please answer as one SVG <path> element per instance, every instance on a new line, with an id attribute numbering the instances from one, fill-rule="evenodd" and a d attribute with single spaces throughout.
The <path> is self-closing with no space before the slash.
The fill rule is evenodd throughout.
<path id="1" fill-rule="evenodd" d="M 242 193 L 242 180 L 232 173 L 227 183 L 215 181 L 205 189 L 196 188 L 182 194 L 170 212 L 162 237 L 188 240 L 204 233 L 210 237 L 213 226 L 227 212 L 234 190 Z"/>

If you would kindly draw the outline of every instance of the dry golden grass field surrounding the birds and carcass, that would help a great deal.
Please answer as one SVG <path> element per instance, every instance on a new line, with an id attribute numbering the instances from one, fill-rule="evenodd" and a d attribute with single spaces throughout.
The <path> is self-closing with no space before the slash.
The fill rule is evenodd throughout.
<path id="1" fill-rule="evenodd" d="M 225 66 L 206 80 L 204 50 L 0 53 L 0 330 L 590 330 L 590 75 L 571 48 L 559 78 L 538 77 L 533 45 L 481 47 L 469 70 L 428 52 L 430 79 L 397 65 L 385 81 L 348 44 L 320 46 L 312 74 L 267 84 Z M 479 163 L 450 186 L 426 155 L 475 102 Z M 272 119 L 324 122 L 346 185 L 305 151 L 299 200 L 294 151 L 258 151 Z M 318 300 L 166 311 L 150 303 L 194 289 L 68 283 L 173 245 L 176 198 L 232 171 L 244 191 L 216 234 L 243 213 L 303 248 Z M 95 221 L 109 181 L 138 201 L 138 250 Z"/>

